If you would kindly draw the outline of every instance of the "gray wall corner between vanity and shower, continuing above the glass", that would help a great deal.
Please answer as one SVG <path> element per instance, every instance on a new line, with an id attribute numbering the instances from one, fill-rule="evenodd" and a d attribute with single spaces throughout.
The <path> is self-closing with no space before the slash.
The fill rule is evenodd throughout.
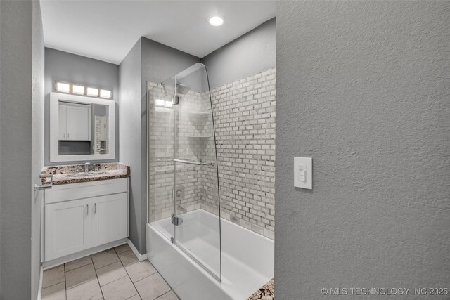
<path id="1" fill-rule="evenodd" d="M 199 61 L 141 38 L 120 64 L 120 162 L 131 166 L 130 240 L 141 254 L 146 253 L 147 80 L 163 81 Z"/>

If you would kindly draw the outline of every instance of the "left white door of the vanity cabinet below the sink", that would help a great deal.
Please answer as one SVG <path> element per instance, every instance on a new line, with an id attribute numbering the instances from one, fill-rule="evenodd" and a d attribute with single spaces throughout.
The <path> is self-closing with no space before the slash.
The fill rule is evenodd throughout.
<path id="1" fill-rule="evenodd" d="M 91 247 L 91 198 L 45 205 L 45 260 Z"/>

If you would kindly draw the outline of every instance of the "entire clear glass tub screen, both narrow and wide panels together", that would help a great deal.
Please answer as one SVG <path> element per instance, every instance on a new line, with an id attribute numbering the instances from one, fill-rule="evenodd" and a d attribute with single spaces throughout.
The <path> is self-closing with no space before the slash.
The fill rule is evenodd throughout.
<path id="1" fill-rule="evenodd" d="M 220 282 L 219 178 L 205 66 L 148 81 L 147 114 L 148 223 Z"/>

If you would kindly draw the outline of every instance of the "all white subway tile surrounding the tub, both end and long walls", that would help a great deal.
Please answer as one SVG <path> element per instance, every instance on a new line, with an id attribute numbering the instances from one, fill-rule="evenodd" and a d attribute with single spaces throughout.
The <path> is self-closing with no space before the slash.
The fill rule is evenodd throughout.
<path id="1" fill-rule="evenodd" d="M 154 106 L 167 97 L 150 84 L 150 221 L 172 214 L 174 112 Z M 166 87 L 167 92 L 167 87 Z M 172 89 L 173 92 L 173 89 Z M 219 166 L 220 209 L 224 219 L 274 238 L 275 69 L 224 84 L 211 91 Z M 177 118 L 177 155 L 214 162 L 209 93 L 188 91 Z M 219 214 L 214 167 L 176 164 L 177 186 L 184 187 L 188 211 Z"/>

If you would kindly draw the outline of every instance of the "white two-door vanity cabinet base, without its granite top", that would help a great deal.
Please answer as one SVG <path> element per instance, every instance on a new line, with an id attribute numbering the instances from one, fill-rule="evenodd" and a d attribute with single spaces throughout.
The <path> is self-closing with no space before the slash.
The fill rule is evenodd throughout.
<path id="1" fill-rule="evenodd" d="M 44 259 L 129 236 L 128 178 L 53 185 L 45 191 Z"/>

